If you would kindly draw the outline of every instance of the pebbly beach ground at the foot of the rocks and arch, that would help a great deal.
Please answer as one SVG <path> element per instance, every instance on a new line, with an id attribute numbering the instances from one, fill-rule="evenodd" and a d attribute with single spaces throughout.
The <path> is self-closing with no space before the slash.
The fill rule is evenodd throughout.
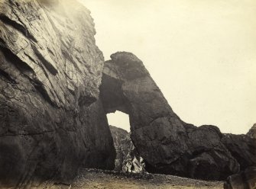
<path id="1" fill-rule="evenodd" d="M 223 188 L 222 181 L 199 181 L 171 175 L 124 174 L 114 171 L 83 169 L 76 181 L 67 188 Z"/>

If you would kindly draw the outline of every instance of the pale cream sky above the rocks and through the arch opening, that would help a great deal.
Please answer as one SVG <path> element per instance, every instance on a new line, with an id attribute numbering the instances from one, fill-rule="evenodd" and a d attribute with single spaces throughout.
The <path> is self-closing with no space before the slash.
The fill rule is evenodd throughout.
<path id="1" fill-rule="evenodd" d="M 105 60 L 134 53 L 186 123 L 247 133 L 256 123 L 255 0 L 81 0 Z M 128 116 L 108 116 L 128 130 Z"/>

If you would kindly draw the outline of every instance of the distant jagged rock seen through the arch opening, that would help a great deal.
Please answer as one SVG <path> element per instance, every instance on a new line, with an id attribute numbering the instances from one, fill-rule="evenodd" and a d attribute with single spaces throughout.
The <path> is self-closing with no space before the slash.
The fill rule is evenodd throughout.
<path id="1" fill-rule="evenodd" d="M 130 133 L 118 127 L 109 126 L 115 144 L 115 171 L 143 173 L 144 161 L 131 142 Z"/>

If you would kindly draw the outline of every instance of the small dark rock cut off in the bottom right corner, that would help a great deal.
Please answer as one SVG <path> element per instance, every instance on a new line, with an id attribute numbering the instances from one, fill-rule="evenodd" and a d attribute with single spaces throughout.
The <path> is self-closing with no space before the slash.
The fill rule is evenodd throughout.
<path id="1" fill-rule="evenodd" d="M 245 171 L 228 177 L 224 189 L 254 189 L 256 187 L 256 167 L 248 167 Z"/>

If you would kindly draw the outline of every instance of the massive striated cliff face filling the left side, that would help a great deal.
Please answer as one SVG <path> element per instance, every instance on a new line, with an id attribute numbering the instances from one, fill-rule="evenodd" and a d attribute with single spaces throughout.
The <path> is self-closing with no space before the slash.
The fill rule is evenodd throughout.
<path id="1" fill-rule="evenodd" d="M 0 2 L 1 186 L 114 168 L 95 34 L 76 1 Z"/>

